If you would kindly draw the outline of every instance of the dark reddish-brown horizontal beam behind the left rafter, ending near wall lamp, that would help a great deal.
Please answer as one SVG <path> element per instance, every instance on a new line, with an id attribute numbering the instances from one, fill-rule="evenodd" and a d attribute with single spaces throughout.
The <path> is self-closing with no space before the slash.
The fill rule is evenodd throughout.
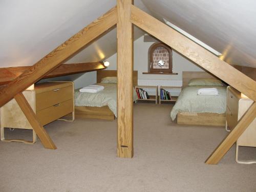
<path id="1" fill-rule="evenodd" d="M 0 86 L 13 81 L 17 76 L 24 73 L 30 67 L 31 66 L 0 68 Z M 86 73 L 102 69 L 105 69 L 105 66 L 102 62 L 62 64 L 50 73 L 46 74 L 44 77 L 42 77 L 42 79 L 72 75 L 77 73 Z"/>

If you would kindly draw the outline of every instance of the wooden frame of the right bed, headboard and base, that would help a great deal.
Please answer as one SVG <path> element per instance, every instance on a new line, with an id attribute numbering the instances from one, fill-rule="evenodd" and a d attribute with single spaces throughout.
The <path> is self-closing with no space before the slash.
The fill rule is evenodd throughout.
<path id="1" fill-rule="evenodd" d="M 182 88 L 188 86 L 188 82 L 193 78 L 211 78 L 218 79 L 212 74 L 207 72 L 194 72 L 194 71 L 183 71 L 182 72 Z M 189 125 L 212 125 L 212 126 L 225 126 L 226 125 L 226 114 L 218 113 L 189 113 L 179 112 L 177 115 L 178 124 L 189 124 Z"/>

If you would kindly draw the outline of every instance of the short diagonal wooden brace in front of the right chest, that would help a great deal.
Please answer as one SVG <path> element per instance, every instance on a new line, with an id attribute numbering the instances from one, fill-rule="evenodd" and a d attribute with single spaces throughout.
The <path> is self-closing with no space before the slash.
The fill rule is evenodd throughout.
<path id="1" fill-rule="evenodd" d="M 250 123 L 256 117 L 256 102 L 250 106 L 245 115 L 238 122 L 237 126 L 228 134 L 228 136 L 221 142 L 216 150 L 205 161 L 206 164 L 218 164 L 222 157 L 228 152 L 229 148 L 238 140 L 244 133 Z"/>

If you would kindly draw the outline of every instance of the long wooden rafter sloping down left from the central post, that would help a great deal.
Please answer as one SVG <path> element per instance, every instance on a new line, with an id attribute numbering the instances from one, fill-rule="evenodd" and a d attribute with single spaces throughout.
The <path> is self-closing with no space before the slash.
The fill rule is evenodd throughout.
<path id="1" fill-rule="evenodd" d="M 117 23 L 116 7 L 106 12 L 94 22 L 65 41 L 35 65 L 0 89 L 0 106 L 10 101 L 16 94 L 27 89 L 47 73 L 57 68 L 61 62 L 88 45 Z"/>

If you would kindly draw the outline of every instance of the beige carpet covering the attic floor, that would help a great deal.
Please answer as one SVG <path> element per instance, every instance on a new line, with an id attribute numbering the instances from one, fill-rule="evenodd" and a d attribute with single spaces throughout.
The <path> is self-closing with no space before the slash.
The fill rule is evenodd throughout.
<path id="1" fill-rule="evenodd" d="M 234 161 L 234 146 L 219 165 L 205 159 L 227 134 L 221 127 L 181 126 L 172 105 L 137 103 L 134 158 L 116 157 L 116 120 L 77 119 L 45 126 L 58 149 L 0 143 L 0 191 L 256 191 L 256 165 Z M 7 137 L 32 132 L 6 129 Z M 241 147 L 256 159 L 256 148 Z"/>

